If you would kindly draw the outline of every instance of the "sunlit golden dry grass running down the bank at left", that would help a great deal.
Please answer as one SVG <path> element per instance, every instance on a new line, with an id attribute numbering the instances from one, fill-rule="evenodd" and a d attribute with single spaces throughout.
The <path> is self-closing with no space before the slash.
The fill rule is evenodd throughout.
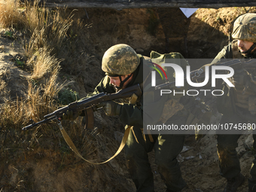
<path id="1" fill-rule="evenodd" d="M 62 18 L 61 11 L 49 11 L 47 8 L 39 8 L 37 2 L 29 4 L 26 2 L 25 11 L 21 15 L 17 11 L 20 4 L 17 1 L 8 0 L 2 4 L 1 21 L 5 27 L 14 19 L 23 23 L 27 32 L 31 32 L 29 43 L 26 44 L 26 56 L 29 60 L 27 65 L 31 66 L 32 74 L 29 80 L 29 87 L 24 98 L 17 101 L 5 102 L 1 106 L 2 126 L 20 126 L 21 122 L 27 122 L 30 118 L 40 120 L 42 114 L 53 111 L 56 108 L 57 93 L 63 85 L 56 84 L 59 75 L 59 62 L 51 52 L 53 49 L 62 47 L 66 31 L 72 25 L 71 17 Z M 8 16 L 8 17 L 7 17 Z M 54 46 L 53 46 L 54 45 Z M 51 48 L 49 48 L 51 47 Z M 33 83 L 32 83 L 33 82 Z M 14 111 L 13 109 L 16 108 Z"/>

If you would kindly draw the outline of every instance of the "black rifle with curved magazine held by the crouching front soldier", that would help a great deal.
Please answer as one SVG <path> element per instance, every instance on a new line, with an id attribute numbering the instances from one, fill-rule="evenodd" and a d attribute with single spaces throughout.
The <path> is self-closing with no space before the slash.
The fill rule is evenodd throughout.
<path id="1" fill-rule="evenodd" d="M 93 129 L 94 124 L 94 116 L 93 111 L 96 109 L 96 106 L 102 102 L 108 102 L 115 99 L 124 99 L 132 96 L 142 96 L 142 89 L 139 84 L 133 85 L 132 87 L 127 87 L 123 90 L 120 90 L 117 93 L 99 93 L 95 96 L 91 96 L 90 98 L 83 99 L 78 102 L 72 102 L 69 105 L 59 108 L 56 111 L 53 111 L 51 114 L 47 114 L 44 116 L 44 120 L 35 123 L 32 121 L 32 124 L 23 127 L 23 130 L 29 130 L 34 126 L 38 126 L 41 123 L 47 123 L 50 120 L 58 119 L 62 117 L 63 113 L 66 113 L 68 110 L 72 110 L 74 112 L 85 110 L 85 116 L 87 117 L 87 128 Z"/>

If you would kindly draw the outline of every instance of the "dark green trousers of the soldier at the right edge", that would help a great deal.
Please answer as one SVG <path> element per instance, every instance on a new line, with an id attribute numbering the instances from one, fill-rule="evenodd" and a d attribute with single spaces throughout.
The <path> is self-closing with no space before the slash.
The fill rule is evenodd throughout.
<path id="1" fill-rule="evenodd" d="M 235 114 L 232 117 L 221 118 L 220 123 L 247 123 L 242 117 Z M 219 158 L 219 166 L 221 176 L 224 178 L 233 178 L 236 175 L 239 175 L 241 172 L 239 157 L 237 156 L 236 147 L 238 147 L 238 139 L 241 134 L 222 134 L 218 135 L 217 139 L 217 150 L 218 150 L 218 158 Z M 253 147 L 256 149 L 256 135 L 253 134 Z M 254 160 L 251 165 L 251 178 L 248 179 L 248 183 L 256 184 L 256 155 L 254 155 Z"/>

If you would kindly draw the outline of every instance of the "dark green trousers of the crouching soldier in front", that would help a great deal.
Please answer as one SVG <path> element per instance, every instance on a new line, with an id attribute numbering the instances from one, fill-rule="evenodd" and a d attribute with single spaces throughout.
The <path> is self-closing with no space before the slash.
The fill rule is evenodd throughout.
<path id="1" fill-rule="evenodd" d="M 126 142 L 126 166 L 131 178 L 136 185 L 137 192 L 154 191 L 154 175 L 148 160 L 148 152 L 154 149 L 157 171 L 166 183 L 169 190 L 181 190 L 185 181 L 181 177 L 181 170 L 176 157 L 181 152 L 184 144 L 184 135 L 152 135 L 151 142 L 148 135 L 143 135 L 142 130 L 134 128 L 130 131 Z"/>

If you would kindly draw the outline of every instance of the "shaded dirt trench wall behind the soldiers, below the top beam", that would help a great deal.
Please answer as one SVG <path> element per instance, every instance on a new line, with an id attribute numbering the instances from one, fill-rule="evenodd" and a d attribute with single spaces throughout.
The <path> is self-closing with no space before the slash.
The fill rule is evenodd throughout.
<path id="1" fill-rule="evenodd" d="M 203 14 L 203 11 L 206 13 Z M 206 23 L 209 13 L 212 15 L 209 23 Z M 177 51 L 187 58 L 213 57 L 223 46 L 222 41 L 227 43 L 228 35 L 223 29 L 219 31 L 219 26 L 227 25 L 229 20 L 218 22 L 212 18 L 217 13 L 214 9 L 200 9 L 187 18 L 179 8 L 136 8 L 121 11 L 87 8 L 74 12 L 75 17 L 92 25 L 90 34 L 99 59 L 108 47 L 120 43 L 129 44 L 146 56 L 151 50 L 157 50 L 160 53 Z M 212 47 L 212 44 L 215 45 L 212 54 L 204 53 L 206 47 Z M 202 53 L 197 53 L 198 49 Z"/>

